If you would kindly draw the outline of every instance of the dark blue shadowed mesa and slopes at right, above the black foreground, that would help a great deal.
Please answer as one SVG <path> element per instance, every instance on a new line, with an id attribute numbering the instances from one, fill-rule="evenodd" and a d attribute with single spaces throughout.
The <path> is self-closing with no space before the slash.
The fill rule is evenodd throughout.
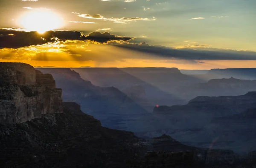
<path id="1" fill-rule="evenodd" d="M 145 132 L 144 136 L 172 134 L 187 145 L 246 153 L 256 149 L 255 108 L 256 92 L 241 96 L 201 96 L 187 105 L 155 107 L 155 118 L 166 125 L 155 132 Z"/>

